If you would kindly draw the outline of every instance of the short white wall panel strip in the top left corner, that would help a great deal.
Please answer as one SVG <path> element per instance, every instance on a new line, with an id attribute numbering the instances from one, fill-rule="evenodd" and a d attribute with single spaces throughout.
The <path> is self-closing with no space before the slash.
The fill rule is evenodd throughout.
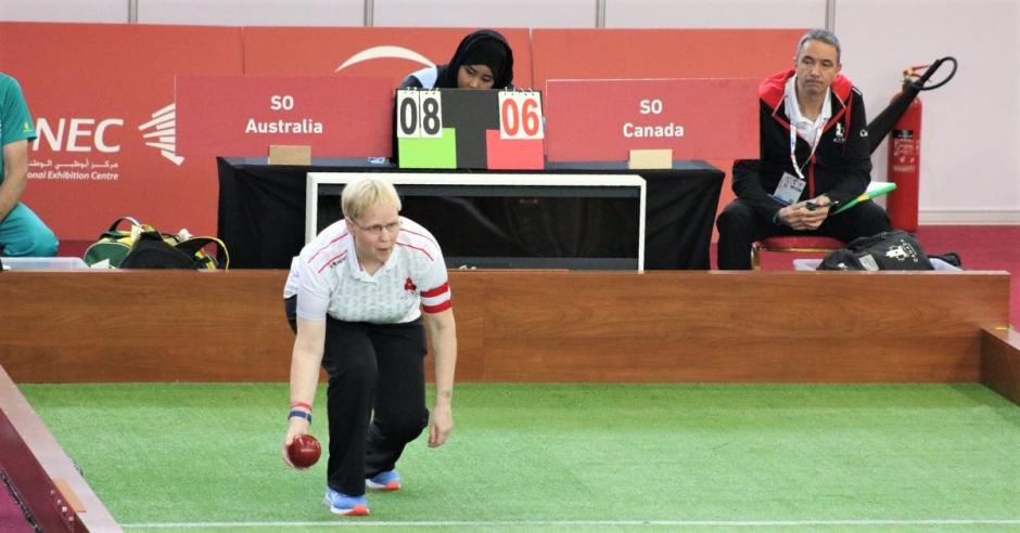
<path id="1" fill-rule="evenodd" d="M 0 0 L 2 22 L 126 23 L 127 0 Z"/>

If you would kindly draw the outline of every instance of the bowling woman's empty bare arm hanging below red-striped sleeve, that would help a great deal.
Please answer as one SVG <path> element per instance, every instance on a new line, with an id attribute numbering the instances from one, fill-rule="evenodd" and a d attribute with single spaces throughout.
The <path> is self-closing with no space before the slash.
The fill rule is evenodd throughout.
<path id="1" fill-rule="evenodd" d="M 429 420 L 429 446 L 443 445 L 454 430 L 454 368 L 457 366 L 457 325 L 454 311 L 424 313 L 425 329 L 435 359 L 435 405 Z"/>

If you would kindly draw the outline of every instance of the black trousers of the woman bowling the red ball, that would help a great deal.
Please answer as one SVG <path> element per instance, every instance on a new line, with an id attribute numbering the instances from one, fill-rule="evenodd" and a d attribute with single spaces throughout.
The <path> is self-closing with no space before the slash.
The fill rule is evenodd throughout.
<path id="1" fill-rule="evenodd" d="M 288 298 L 284 306 L 296 330 L 295 300 Z M 326 318 L 330 487 L 365 494 L 365 479 L 392 470 L 407 443 L 421 434 L 429 424 L 424 356 L 420 318 L 405 324 Z"/>

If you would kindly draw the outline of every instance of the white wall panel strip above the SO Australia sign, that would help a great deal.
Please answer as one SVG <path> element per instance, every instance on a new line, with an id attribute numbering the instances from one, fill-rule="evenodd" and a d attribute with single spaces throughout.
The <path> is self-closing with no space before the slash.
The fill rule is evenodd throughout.
<path id="1" fill-rule="evenodd" d="M 122 0 L 126 3 L 126 0 Z M 142 24 L 361 26 L 364 0 L 138 0 Z"/>

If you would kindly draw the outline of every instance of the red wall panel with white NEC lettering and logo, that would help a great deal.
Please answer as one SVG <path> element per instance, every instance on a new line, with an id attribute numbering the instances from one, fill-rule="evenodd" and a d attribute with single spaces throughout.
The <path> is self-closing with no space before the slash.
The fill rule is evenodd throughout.
<path id="1" fill-rule="evenodd" d="M 61 239 L 94 239 L 125 214 L 216 231 L 215 160 L 174 152 L 174 77 L 241 74 L 240 28 L 7 23 L 0 42 L 42 130 L 23 200 Z"/>

